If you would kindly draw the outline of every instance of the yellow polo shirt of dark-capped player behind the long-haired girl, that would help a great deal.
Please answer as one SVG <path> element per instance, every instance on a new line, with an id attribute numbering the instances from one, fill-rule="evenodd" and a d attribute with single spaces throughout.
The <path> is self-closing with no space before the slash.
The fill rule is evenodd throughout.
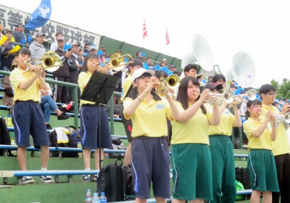
<path id="1" fill-rule="evenodd" d="M 213 106 L 211 104 L 204 104 L 206 110 L 213 114 Z M 233 121 L 235 120 L 235 115 L 233 115 L 229 109 L 224 109 L 222 116 L 220 117 L 220 124 L 218 126 L 209 126 L 209 135 L 229 135 L 233 132 Z"/>

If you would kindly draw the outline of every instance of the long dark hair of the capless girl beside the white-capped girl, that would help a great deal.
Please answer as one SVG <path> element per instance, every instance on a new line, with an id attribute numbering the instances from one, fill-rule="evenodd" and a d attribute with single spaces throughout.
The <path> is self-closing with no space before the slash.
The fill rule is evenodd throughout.
<path id="1" fill-rule="evenodd" d="M 182 104 L 182 107 L 184 110 L 189 108 L 189 96 L 187 95 L 187 88 L 189 87 L 189 81 L 193 83 L 195 86 L 200 87 L 200 82 L 195 77 L 184 77 L 180 81 L 180 87 L 178 88 L 178 93 L 176 97 L 176 101 L 179 101 L 180 104 Z M 200 96 L 197 97 L 196 101 L 200 99 Z M 206 114 L 206 108 L 204 107 L 204 104 L 200 106 L 202 109 L 202 113 Z"/>

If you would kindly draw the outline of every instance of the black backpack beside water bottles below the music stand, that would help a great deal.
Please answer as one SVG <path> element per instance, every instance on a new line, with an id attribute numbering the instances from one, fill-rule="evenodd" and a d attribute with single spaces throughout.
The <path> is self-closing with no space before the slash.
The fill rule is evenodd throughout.
<path id="1" fill-rule="evenodd" d="M 117 164 L 117 161 L 121 164 Z M 115 164 L 108 164 L 101 168 L 97 177 L 97 191 L 105 192 L 107 202 L 120 202 L 125 200 L 126 169 L 122 167 L 122 160 L 117 159 Z"/>

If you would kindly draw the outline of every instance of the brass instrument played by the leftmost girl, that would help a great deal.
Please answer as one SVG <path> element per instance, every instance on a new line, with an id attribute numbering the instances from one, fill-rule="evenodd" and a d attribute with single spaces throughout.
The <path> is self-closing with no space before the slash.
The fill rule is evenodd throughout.
<path id="1" fill-rule="evenodd" d="M 46 69 L 51 72 L 54 72 L 55 70 L 59 69 L 60 66 L 63 65 L 61 59 L 59 58 L 59 55 L 55 51 L 45 52 L 43 57 L 39 59 L 33 59 L 31 61 L 24 62 L 28 63 L 28 68 L 32 64 L 36 64 L 36 66 L 41 64 L 43 69 Z"/>

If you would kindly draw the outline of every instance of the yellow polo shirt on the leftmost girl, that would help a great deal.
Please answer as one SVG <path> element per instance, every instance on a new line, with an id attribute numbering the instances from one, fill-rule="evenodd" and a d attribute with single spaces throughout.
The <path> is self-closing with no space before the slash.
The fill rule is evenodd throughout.
<path id="1" fill-rule="evenodd" d="M 20 70 L 19 68 L 14 68 L 14 70 L 12 70 L 10 74 L 10 82 L 14 90 L 13 104 L 15 104 L 16 101 L 28 100 L 37 101 L 40 103 L 39 79 L 36 79 L 27 90 L 21 90 L 21 88 L 19 88 L 19 84 L 21 84 L 21 82 L 28 81 L 28 79 L 30 79 L 33 75 L 35 75 L 33 72 Z"/>

